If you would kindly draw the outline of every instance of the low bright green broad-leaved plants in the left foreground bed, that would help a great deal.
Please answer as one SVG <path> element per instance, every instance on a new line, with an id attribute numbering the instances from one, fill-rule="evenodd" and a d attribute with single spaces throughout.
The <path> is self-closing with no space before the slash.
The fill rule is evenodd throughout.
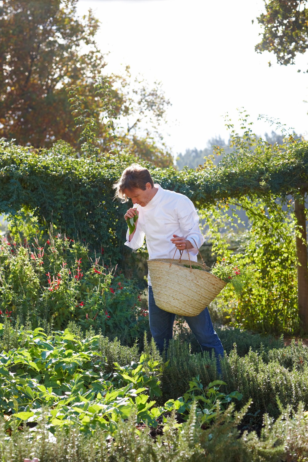
<path id="1" fill-rule="evenodd" d="M 1 334 L 5 334 L 2 325 Z M 16 419 L 37 422 L 44 413 L 53 432 L 75 422 L 84 432 L 100 426 L 112 434 L 116 423 L 134 412 L 138 420 L 157 425 L 160 412 L 151 412 L 155 401 L 149 401 L 149 395 L 159 395 L 159 382 L 153 375 L 157 364 L 151 359 L 146 367 L 152 376 L 137 368 L 135 380 L 122 386 L 104 371 L 106 359 L 97 351 L 101 336 L 81 339 L 66 330 L 48 337 L 42 328 L 19 331 L 18 336 L 23 346 L 0 354 L 0 409 L 9 416 L 7 426 Z M 141 367 L 144 361 L 142 356 Z M 123 370 L 117 363 L 113 368 Z"/>

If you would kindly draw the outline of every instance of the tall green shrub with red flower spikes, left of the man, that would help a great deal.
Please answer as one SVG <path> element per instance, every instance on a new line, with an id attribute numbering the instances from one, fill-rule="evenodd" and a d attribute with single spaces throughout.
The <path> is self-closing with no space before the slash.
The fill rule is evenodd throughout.
<path id="1" fill-rule="evenodd" d="M 0 238 L 0 316 L 56 329 L 74 321 L 133 344 L 149 329 L 140 289 L 103 257 L 50 233 L 32 243 Z"/>

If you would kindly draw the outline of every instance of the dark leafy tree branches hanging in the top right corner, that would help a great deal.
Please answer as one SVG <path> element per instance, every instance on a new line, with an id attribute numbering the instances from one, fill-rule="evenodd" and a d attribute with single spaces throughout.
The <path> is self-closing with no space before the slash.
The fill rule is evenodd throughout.
<path id="1" fill-rule="evenodd" d="M 266 13 L 257 18 L 263 32 L 255 50 L 272 51 L 278 64 L 295 64 L 296 54 L 305 53 L 308 47 L 308 2 L 269 0 L 265 8 Z"/>

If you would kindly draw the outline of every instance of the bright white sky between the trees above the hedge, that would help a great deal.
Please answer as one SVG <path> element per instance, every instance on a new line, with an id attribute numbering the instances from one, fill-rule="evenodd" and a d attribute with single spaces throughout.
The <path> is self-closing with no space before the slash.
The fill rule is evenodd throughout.
<path id="1" fill-rule="evenodd" d="M 275 130 L 257 122 L 266 114 L 308 138 L 303 102 L 308 74 L 297 73 L 308 68 L 307 56 L 294 66 L 279 66 L 274 55 L 254 51 L 263 5 L 263 0 L 79 0 L 78 13 L 91 8 L 101 22 L 97 43 L 109 52 L 106 73 L 128 64 L 133 75 L 162 82 L 172 106 L 161 132 L 176 155 L 203 149 L 218 135 L 228 140 L 223 116 L 228 112 L 236 123 L 239 107 L 248 111 L 257 134 Z"/>

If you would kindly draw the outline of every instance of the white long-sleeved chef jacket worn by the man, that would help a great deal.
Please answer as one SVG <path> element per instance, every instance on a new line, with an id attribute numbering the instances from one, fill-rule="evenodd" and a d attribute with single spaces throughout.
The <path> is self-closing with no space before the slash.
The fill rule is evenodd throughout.
<path id="1" fill-rule="evenodd" d="M 192 243 L 194 248 L 189 250 L 189 256 L 192 261 L 197 261 L 196 244 L 200 248 L 205 239 L 199 228 L 199 216 L 193 202 L 183 194 L 163 189 L 159 184 L 154 186 L 158 191 L 145 207 L 138 207 L 139 218 L 133 239 L 129 242 L 127 230 L 125 245 L 136 250 L 143 245 L 145 239 L 150 259 L 173 258 L 175 245 L 170 239 L 177 234 Z M 180 258 L 178 250 L 175 258 Z M 183 251 L 182 260 L 188 260 L 187 250 Z M 151 286 L 150 275 L 148 283 Z"/>

